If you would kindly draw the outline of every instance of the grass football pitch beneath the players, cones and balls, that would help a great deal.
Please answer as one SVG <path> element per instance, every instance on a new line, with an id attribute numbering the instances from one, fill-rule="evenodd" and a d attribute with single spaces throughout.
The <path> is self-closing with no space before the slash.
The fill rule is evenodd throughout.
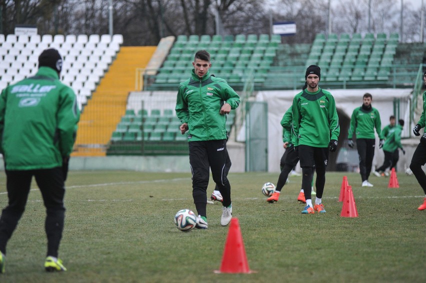
<path id="1" fill-rule="evenodd" d="M 340 217 L 342 177 L 352 186 L 359 217 Z M 426 212 L 413 176 L 327 173 L 324 215 L 301 215 L 296 198 L 301 177 L 290 177 L 279 201 L 266 203 L 265 182 L 278 174 L 234 173 L 233 216 L 238 218 L 253 274 L 215 274 L 228 232 L 221 205 L 207 205 L 208 230 L 178 231 L 173 216 L 195 211 L 190 174 L 71 171 L 66 182 L 66 218 L 59 258 L 67 272 L 43 270 L 44 207 L 33 184 L 26 211 L 7 246 L 0 282 L 424 282 Z M 208 196 L 213 190 L 210 180 Z M 5 207 L 0 174 L 0 206 Z"/>

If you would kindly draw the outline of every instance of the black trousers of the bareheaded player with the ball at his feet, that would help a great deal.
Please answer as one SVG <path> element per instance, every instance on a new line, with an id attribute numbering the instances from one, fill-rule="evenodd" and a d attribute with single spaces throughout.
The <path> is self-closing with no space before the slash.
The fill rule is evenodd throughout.
<path id="1" fill-rule="evenodd" d="M 211 175 L 223 198 L 223 206 L 231 204 L 230 184 L 226 177 L 226 140 L 190 141 L 189 165 L 192 172 L 192 197 L 200 216 L 206 217 L 207 186 Z"/>

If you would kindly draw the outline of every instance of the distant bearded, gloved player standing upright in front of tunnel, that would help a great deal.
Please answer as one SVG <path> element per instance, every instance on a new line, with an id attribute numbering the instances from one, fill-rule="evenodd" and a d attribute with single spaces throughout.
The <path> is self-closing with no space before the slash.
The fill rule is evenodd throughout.
<path id="1" fill-rule="evenodd" d="M 347 145 L 353 148 L 352 137 L 356 133 L 356 149 L 359 157 L 359 174 L 361 175 L 362 187 L 373 187 L 368 182 L 371 173 L 372 160 L 374 157 L 375 137 L 374 128 L 377 132 L 379 148 L 383 147 L 383 135 L 381 133 L 381 121 L 378 110 L 371 106 L 372 95 L 365 93 L 362 97 L 362 106 L 352 112 L 348 133 Z"/>

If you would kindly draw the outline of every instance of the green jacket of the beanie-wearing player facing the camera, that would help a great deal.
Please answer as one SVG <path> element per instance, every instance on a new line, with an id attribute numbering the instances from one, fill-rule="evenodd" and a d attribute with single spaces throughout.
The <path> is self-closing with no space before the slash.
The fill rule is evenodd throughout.
<path id="1" fill-rule="evenodd" d="M 334 97 L 326 90 L 306 89 L 293 98 L 293 145 L 327 147 L 340 133 Z"/>

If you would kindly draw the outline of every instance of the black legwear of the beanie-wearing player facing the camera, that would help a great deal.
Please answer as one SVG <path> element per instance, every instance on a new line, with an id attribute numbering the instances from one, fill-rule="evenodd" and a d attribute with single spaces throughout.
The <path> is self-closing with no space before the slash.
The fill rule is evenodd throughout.
<path id="1" fill-rule="evenodd" d="M 304 198 L 311 199 L 312 193 L 312 174 L 316 171 L 316 197 L 322 198 L 325 186 L 325 168 L 328 163 L 329 150 L 326 147 L 313 147 L 308 145 L 299 145 L 298 154 L 300 167 L 302 168 L 302 189 Z"/>

